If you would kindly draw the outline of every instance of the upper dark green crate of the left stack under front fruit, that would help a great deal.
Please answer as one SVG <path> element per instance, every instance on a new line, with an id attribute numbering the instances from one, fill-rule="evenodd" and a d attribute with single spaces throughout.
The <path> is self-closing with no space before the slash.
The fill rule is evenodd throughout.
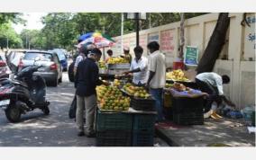
<path id="1" fill-rule="evenodd" d="M 122 112 L 97 111 L 96 130 L 132 129 L 133 115 Z"/>

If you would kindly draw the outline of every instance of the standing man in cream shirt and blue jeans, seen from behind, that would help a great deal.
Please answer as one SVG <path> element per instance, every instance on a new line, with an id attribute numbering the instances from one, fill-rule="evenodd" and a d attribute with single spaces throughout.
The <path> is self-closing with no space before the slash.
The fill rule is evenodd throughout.
<path id="1" fill-rule="evenodd" d="M 165 56 L 160 52 L 160 45 L 157 41 L 151 41 L 148 44 L 148 49 L 151 52 L 150 55 L 150 76 L 146 84 L 147 88 L 150 89 L 151 95 L 156 100 L 155 107 L 158 112 L 157 121 L 164 120 L 162 107 L 163 107 L 163 88 L 165 86 L 165 74 L 166 74 L 166 63 Z"/>

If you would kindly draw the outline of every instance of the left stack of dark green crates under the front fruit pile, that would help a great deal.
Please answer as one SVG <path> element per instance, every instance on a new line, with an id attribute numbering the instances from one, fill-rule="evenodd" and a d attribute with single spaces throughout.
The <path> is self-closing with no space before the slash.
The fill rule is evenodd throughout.
<path id="1" fill-rule="evenodd" d="M 96 146 L 130 147 L 133 115 L 122 112 L 97 111 Z"/>

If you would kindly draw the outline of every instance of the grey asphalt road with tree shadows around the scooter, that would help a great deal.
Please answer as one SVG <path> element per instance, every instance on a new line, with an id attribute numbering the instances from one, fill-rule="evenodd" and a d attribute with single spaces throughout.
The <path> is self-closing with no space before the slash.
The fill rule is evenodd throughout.
<path id="1" fill-rule="evenodd" d="M 67 72 L 58 87 L 47 88 L 50 115 L 40 110 L 22 116 L 22 122 L 10 123 L 5 112 L 0 111 L 0 147 L 93 147 L 95 138 L 77 136 L 74 120 L 68 116 L 69 105 L 74 96 L 74 87 L 69 83 Z M 167 147 L 160 138 L 155 146 Z"/>

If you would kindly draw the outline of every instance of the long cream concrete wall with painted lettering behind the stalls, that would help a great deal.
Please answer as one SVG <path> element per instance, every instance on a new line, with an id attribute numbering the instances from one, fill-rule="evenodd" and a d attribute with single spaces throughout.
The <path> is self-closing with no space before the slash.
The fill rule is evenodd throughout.
<path id="1" fill-rule="evenodd" d="M 215 63 L 214 71 L 231 77 L 231 83 L 224 85 L 224 93 L 243 108 L 246 104 L 255 104 L 255 13 L 247 13 L 246 19 L 251 27 L 242 26 L 242 13 L 230 13 L 230 27 L 220 57 Z M 185 22 L 185 46 L 197 46 L 199 59 L 202 58 L 207 43 L 215 29 L 218 13 L 208 13 L 194 17 Z M 140 31 L 140 45 L 147 56 L 146 45 L 151 40 L 160 42 L 160 49 L 166 55 L 168 66 L 178 56 L 179 22 Z M 117 44 L 114 55 L 120 55 L 121 37 L 115 37 Z M 130 47 L 133 54 L 135 32 L 123 35 L 123 46 Z M 224 56 L 227 59 L 222 60 Z M 194 67 L 195 68 L 195 67 Z"/>

